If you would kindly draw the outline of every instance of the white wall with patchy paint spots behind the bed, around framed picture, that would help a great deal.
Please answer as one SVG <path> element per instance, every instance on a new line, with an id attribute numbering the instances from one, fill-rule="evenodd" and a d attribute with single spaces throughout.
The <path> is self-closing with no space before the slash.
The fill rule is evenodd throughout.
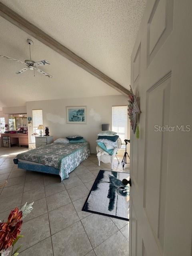
<path id="1" fill-rule="evenodd" d="M 117 95 L 32 101 L 26 102 L 26 108 L 28 117 L 32 117 L 34 109 L 43 110 L 43 125 L 49 127 L 50 135 L 53 135 L 54 139 L 79 134 L 90 142 L 91 152 L 96 153 L 95 141 L 101 131 L 101 124 L 110 124 L 112 127 L 112 106 L 127 104 L 126 96 Z M 66 124 L 66 106 L 87 106 L 87 123 Z M 28 125 L 29 141 L 32 133 L 33 125 Z"/>

